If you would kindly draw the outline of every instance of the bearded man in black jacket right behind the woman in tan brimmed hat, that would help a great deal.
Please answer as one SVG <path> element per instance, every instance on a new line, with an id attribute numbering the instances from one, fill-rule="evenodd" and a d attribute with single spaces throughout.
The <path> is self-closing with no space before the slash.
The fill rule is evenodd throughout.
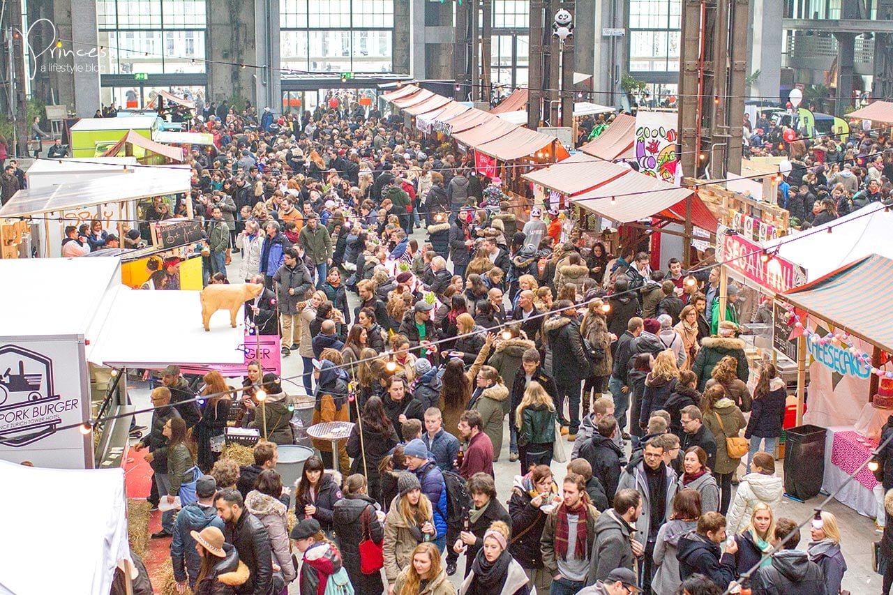
<path id="1" fill-rule="evenodd" d="M 239 595 L 272 595 L 273 566 L 270 538 L 263 523 L 245 508 L 238 490 L 222 490 L 214 502 L 223 519 L 223 535 L 238 551 L 238 559 L 248 566 L 248 580 L 236 591 Z"/>

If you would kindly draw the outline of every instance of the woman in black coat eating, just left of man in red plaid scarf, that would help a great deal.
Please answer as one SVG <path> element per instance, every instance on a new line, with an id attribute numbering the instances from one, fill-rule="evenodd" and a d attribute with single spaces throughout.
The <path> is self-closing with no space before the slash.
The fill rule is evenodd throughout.
<path id="1" fill-rule="evenodd" d="M 558 486 L 555 485 L 552 470 L 547 465 L 537 465 L 523 477 L 515 477 L 512 496 L 508 500 L 508 514 L 517 531 L 513 535 L 509 552 L 524 570 L 543 567 L 539 539 L 543 536 L 548 515 L 540 507 L 549 504 L 557 493 Z M 547 589 L 547 585 L 531 586 Z"/>

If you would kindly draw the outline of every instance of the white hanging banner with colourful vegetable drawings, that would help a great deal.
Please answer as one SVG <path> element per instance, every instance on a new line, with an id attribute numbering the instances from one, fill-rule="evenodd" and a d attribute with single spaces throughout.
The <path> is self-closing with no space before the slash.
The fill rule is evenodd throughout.
<path id="1" fill-rule="evenodd" d="M 670 184 L 676 183 L 678 120 L 679 116 L 674 112 L 638 111 L 634 154 L 639 172 Z"/>

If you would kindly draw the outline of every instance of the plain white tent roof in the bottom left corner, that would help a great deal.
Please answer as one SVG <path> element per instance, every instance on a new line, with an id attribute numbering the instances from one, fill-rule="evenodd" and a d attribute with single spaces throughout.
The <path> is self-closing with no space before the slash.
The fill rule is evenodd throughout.
<path id="1" fill-rule="evenodd" d="M 0 593 L 108 595 L 130 562 L 123 469 L 42 469 L 0 461 Z M 60 500 L 60 495 L 62 499 Z M 62 514 L 23 514 L 60 510 Z"/>

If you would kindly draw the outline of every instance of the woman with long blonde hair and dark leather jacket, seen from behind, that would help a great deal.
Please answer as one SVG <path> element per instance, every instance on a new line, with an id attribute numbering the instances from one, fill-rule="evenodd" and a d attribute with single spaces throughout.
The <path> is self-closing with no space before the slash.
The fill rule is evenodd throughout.
<path id="1" fill-rule="evenodd" d="M 521 474 L 531 466 L 550 465 L 555 446 L 555 403 L 543 385 L 530 381 L 514 415 L 518 428 L 518 458 Z"/>

